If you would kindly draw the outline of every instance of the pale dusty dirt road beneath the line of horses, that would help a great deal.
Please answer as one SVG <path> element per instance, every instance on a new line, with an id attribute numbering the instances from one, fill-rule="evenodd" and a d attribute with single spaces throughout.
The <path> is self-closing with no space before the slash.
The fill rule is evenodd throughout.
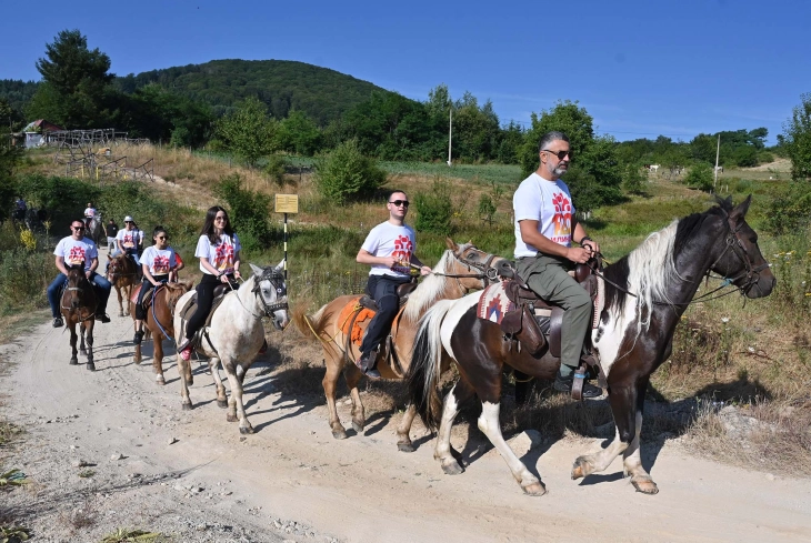
<path id="1" fill-rule="evenodd" d="M 2 378 L 4 411 L 28 432 L 8 462 L 36 482 L 2 499 L 30 514 L 34 541 L 99 541 L 118 526 L 181 542 L 811 541 L 808 480 L 720 465 L 665 442 L 643 445 L 661 490 L 647 496 L 619 461 L 571 481 L 574 457 L 601 442 L 565 440 L 524 456 L 549 490 L 528 497 L 478 430 L 467 448 L 454 438 L 469 463 L 459 476 L 442 474 L 421 429 L 417 452 L 397 451 L 400 413 L 368 413 L 363 435 L 336 441 L 323 400 L 277 390 L 267 363 L 246 379 L 257 433 L 241 438 L 201 366 L 196 409 L 183 412 L 173 359 L 159 386 L 151 359 L 132 363 L 131 339 L 129 318 L 98 324 L 96 372 L 68 365 L 68 334 L 50 323 L 0 348 L 14 362 Z"/>

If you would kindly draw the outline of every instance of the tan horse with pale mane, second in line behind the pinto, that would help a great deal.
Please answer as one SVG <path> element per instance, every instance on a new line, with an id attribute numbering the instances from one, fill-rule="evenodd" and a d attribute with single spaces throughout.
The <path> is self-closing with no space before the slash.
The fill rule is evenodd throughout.
<path id="1" fill-rule="evenodd" d="M 490 268 L 495 260 L 501 260 L 474 248 L 471 243 L 458 245 L 452 240 L 447 240 L 448 250 L 442 254 L 439 263 L 433 269 L 433 273 L 428 275 L 417 289 L 409 295 L 406 309 L 399 316 L 397 324 L 397 333 L 393 335 L 393 345 L 397 360 L 401 366 L 394 369 L 386 363 L 379 363 L 380 374 L 387 379 L 403 379 L 408 371 L 411 348 L 413 345 L 414 333 L 417 332 L 417 322 L 420 316 L 438 300 L 462 298 L 469 289 L 482 289 L 488 285 L 489 281 L 495 279 L 495 270 Z M 475 268 L 477 270 L 472 270 Z M 488 270 L 491 273 L 488 274 Z M 308 318 L 303 314 L 294 314 L 294 321 L 299 330 L 308 334 L 310 331 L 323 344 L 324 362 L 327 364 L 327 374 L 322 384 L 324 394 L 327 395 L 327 405 L 329 408 L 329 424 L 332 429 L 332 436 L 338 440 L 347 438 L 347 431 L 338 418 L 336 410 L 336 386 L 338 379 L 343 371 L 347 386 L 352 398 L 352 428 L 358 432 L 363 431 L 366 425 L 366 415 L 363 412 L 363 403 L 361 403 L 358 392 L 358 381 L 360 381 L 361 372 L 354 365 L 353 361 L 359 356 L 356 352 L 357 346 L 350 352 L 347 350 L 347 336 L 342 332 L 343 322 L 341 314 L 343 309 L 350 303 L 356 303 L 360 295 L 343 295 L 332 300 L 322 306 L 318 312 Z M 344 318 L 346 320 L 346 318 Z M 368 324 L 364 323 L 364 324 Z M 351 333 L 351 331 L 350 331 Z M 402 418 L 400 426 L 397 429 L 398 449 L 403 452 L 412 452 L 414 450 L 411 444 L 409 431 L 417 415 L 413 405 L 409 405 Z"/>

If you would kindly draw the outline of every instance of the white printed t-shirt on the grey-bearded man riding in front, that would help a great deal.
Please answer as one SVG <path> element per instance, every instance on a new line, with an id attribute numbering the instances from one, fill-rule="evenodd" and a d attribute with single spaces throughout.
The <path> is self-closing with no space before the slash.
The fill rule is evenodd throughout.
<path id="1" fill-rule="evenodd" d="M 572 247 L 574 204 L 569 187 L 561 181 L 548 181 L 533 172 L 512 195 L 515 211 L 515 258 L 534 257 L 538 249 L 521 239 L 520 221 L 538 221 L 538 231 L 563 247 Z"/>

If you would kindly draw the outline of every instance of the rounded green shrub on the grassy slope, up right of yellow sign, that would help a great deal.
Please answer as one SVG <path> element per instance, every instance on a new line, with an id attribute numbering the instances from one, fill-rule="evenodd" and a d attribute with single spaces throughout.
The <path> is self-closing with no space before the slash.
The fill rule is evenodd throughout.
<path id="1" fill-rule="evenodd" d="M 314 178 L 323 197 L 342 203 L 371 195 L 386 182 L 386 172 L 360 152 L 358 140 L 353 139 L 321 158 L 316 163 Z"/>

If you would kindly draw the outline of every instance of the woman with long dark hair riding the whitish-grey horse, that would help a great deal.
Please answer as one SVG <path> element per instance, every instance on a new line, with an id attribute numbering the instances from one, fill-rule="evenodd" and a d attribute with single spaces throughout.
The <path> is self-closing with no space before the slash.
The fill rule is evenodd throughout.
<path id="1" fill-rule="evenodd" d="M 178 345 L 178 352 L 183 360 L 191 358 L 191 340 L 206 323 L 214 300 L 214 288 L 241 279 L 240 249 L 239 238 L 231 227 L 228 212 L 220 205 L 209 208 L 194 251 L 194 257 L 200 259 L 200 271 L 203 272 L 202 280 L 197 285 L 197 310 L 187 324 L 186 339 Z"/>

